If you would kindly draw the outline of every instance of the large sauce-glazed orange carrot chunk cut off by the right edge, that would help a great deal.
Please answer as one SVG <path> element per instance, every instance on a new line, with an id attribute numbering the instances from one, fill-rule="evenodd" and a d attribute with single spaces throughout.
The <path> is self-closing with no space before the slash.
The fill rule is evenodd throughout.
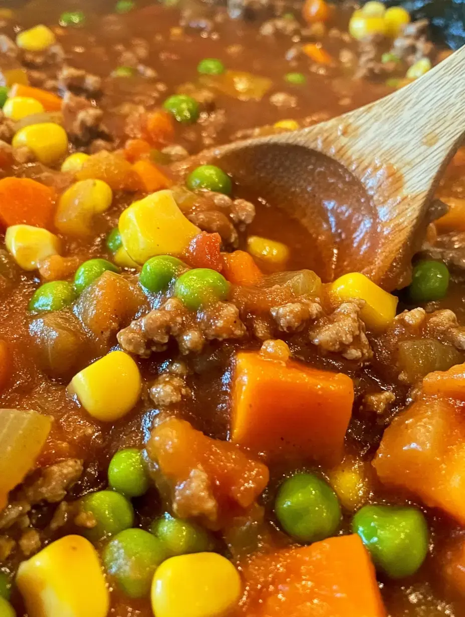
<path id="1" fill-rule="evenodd" d="M 385 430 L 373 465 L 380 481 L 465 524 L 463 406 L 432 397 L 415 402 Z"/>

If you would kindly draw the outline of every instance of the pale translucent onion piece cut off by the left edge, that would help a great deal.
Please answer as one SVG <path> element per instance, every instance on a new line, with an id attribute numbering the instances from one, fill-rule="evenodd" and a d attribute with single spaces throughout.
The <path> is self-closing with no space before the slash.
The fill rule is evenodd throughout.
<path id="1" fill-rule="evenodd" d="M 0 409 L 0 510 L 44 447 L 52 419 L 37 412 Z"/>

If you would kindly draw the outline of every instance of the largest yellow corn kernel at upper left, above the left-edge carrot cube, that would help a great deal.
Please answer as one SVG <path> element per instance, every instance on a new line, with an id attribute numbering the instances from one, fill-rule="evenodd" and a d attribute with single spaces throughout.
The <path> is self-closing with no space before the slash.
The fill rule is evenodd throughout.
<path id="1" fill-rule="evenodd" d="M 62 126 L 53 122 L 31 124 L 16 133 L 12 145 L 27 146 L 41 163 L 54 165 L 68 152 L 68 136 Z"/>

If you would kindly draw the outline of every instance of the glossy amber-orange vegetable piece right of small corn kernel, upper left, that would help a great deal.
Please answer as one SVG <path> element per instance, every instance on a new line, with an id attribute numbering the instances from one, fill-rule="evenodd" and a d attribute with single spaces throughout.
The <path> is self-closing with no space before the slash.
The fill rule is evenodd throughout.
<path id="1" fill-rule="evenodd" d="M 76 177 L 78 180 L 103 180 L 114 191 L 137 191 L 141 184 L 140 176 L 124 156 L 105 150 L 92 154 Z"/>

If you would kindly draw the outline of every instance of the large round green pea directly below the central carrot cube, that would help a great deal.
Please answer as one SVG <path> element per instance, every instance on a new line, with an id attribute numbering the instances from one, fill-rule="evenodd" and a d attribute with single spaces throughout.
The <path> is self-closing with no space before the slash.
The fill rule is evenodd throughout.
<path id="1" fill-rule="evenodd" d="M 337 495 L 312 473 L 298 473 L 285 480 L 274 509 L 284 531 L 301 542 L 333 536 L 341 520 Z"/>

